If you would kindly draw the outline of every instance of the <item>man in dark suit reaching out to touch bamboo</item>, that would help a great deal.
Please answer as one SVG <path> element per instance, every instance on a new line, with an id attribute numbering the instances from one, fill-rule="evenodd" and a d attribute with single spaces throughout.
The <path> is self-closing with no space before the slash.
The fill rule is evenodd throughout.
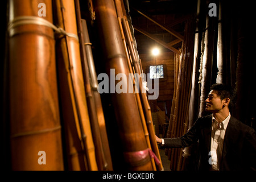
<path id="1" fill-rule="evenodd" d="M 160 139 L 166 148 L 184 148 L 199 144 L 199 170 L 256 170 L 256 134 L 254 129 L 232 117 L 229 106 L 235 92 L 224 84 L 214 84 L 208 94 L 205 110 L 182 137 Z"/>

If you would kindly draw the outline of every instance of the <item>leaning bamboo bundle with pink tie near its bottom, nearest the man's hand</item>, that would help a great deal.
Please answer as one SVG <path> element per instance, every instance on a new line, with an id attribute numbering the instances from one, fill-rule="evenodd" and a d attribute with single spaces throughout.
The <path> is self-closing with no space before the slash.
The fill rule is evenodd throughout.
<path id="1" fill-rule="evenodd" d="M 126 75 L 128 79 L 122 80 L 126 84 L 134 82 L 136 77 L 130 81 L 129 73 L 140 75 L 141 67 L 135 55 L 123 2 L 94 1 L 94 8 L 101 47 L 104 50 L 106 73 L 110 76 L 110 69 L 114 69 L 115 75 L 118 73 Z M 112 95 L 126 168 L 161 170 L 160 161 L 156 165 L 155 160 L 152 159 L 152 156 L 155 156 L 155 159 L 160 160 L 160 155 L 155 141 L 150 107 L 146 94 L 142 93 L 142 82 L 139 82 L 139 85 L 140 94 L 129 93 L 127 90 L 127 93 Z"/>

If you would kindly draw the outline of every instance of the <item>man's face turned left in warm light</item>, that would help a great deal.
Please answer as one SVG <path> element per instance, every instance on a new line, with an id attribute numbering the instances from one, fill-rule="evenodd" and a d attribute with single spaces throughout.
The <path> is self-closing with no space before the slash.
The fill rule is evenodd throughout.
<path id="1" fill-rule="evenodd" d="M 224 100 L 221 100 L 217 93 L 218 92 L 216 90 L 210 90 L 208 98 L 205 100 L 205 102 L 207 102 L 205 111 L 216 113 L 224 107 Z"/>

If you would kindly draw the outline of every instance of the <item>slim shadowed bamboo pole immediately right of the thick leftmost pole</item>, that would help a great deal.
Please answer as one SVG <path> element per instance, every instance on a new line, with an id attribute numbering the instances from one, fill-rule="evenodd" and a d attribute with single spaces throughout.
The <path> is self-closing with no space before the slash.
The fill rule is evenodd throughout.
<path id="1" fill-rule="evenodd" d="M 60 1 L 55 1 L 53 6 L 56 12 L 55 22 L 57 22 L 59 27 L 63 28 L 64 25 L 61 16 Z M 64 151 L 66 154 L 65 159 L 67 160 L 66 168 L 68 170 L 88 170 L 88 164 L 86 163 L 85 159 L 85 151 L 81 142 L 80 127 L 78 127 L 79 113 L 76 107 L 72 77 L 69 70 L 67 42 L 65 37 L 62 35 L 60 38 L 57 37 L 56 39 L 56 51 L 60 88 L 60 113 L 63 120 L 63 131 L 65 138 Z"/>

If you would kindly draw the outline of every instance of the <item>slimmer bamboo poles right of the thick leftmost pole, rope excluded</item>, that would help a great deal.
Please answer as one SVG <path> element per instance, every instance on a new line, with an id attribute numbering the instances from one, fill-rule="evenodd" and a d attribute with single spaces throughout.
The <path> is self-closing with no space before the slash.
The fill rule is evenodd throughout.
<path id="1" fill-rule="evenodd" d="M 95 93 L 97 83 L 91 85 L 89 81 L 95 80 L 96 76 L 89 75 L 89 51 L 85 52 L 86 29 L 82 29 L 79 1 L 60 0 L 53 4 L 56 24 L 79 38 L 60 35 L 57 39 L 68 169 L 112 170 L 106 129 L 102 126 L 105 125 L 103 112 L 96 108 L 96 105 L 101 105 L 100 97 Z M 92 70 L 93 66 L 90 67 Z"/>

